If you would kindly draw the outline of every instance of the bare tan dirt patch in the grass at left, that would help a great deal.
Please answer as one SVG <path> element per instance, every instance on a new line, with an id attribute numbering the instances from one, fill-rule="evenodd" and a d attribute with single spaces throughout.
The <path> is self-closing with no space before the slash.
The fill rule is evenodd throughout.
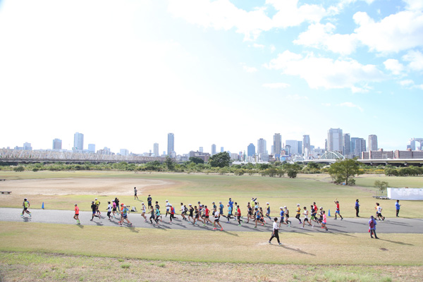
<path id="1" fill-rule="evenodd" d="M 138 195 L 151 188 L 173 185 L 171 181 L 119 178 L 51 178 L 1 181 L 1 191 L 12 195 Z"/>

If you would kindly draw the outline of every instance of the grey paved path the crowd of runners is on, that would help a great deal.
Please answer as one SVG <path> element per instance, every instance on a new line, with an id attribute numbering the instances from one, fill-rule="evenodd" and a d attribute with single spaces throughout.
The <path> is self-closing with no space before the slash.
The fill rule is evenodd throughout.
<path id="1" fill-rule="evenodd" d="M 22 218 L 20 213 L 22 209 L 12 209 L 12 208 L 0 208 L 0 221 L 17 221 L 17 222 L 36 222 L 36 223 L 56 223 L 56 224 L 75 224 L 76 221 L 73 219 L 74 212 L 66 210 L 54 210 L 54 209 L 30 209 L 32 217 L 25 216 Z M 80 212 L 80 222 L 83 226 L 119 226 L 118 220 L 113 219 L 109 221 L 107 219 L 107 212 L 102 212 L 102 219 L 94 217 L 94 221 L 90 221 L 91 212 Z M 147 219 L 149 219 L 149 216 Z M 152 226 L 151 223 L 144 221 L 144 218 L 141 216 L 140 212 L 134 212 L 128 214 L 128 219 L 133 223 L 133 227 L 140 228 L 157 228 Z M 163 216 L 163 222 L 159 228 L 166 229 L 179 229 L 179 230 L 197 230 L 197 231 L 212 231 L 213 226 L 207 224 L 206 226 L 192 226 L 188 221 L 180 220 L 181 217 L 178 216 L 177 220 L 174 220 L 169 224 L 169 216 Z M 323 232 L 324 229 L 320 226 L 305 226 L 304 229 L 300 228 L 302 224 L 298 224 L 295 218 L 291 218 L 293 224 L 291 227 L 282 225 L 280 232 L 294 232 L 294 233 L 309 233 L 309 232 Z M 344 219 L 335 220 L 333 217 L 328 217 L 328 228 L 329 233 L 368 233 L 369 219 L 360 218 L 360 219 Z M 153 221 L 154 222 L 154 221 Z M 238 221 L 231 220 L 231 223 L 226 223 L 226 219 L 221 217 L 221 224 L 223 226 L 223 231 L 249 231 L 249 232 L 270 232 L 271 231 L 271 222 L 266 221 L 266 226 L 257 225 L 257 228 L 253 228 L 255 225 L 250 221 L 250 223 L 243 223 L 243 226 L 238 226 Z M 125 223 L 123 226 L 127 226 Z M 380 233 L 423 233 L 423 219 L 386 219 L 385 221 L 377 221 L 376 231 L 378 235 Z"/>

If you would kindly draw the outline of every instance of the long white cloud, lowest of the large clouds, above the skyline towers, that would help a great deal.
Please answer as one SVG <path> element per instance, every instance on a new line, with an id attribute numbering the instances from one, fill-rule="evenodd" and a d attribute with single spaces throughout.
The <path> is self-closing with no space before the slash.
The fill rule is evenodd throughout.
<path id="1" fill-rule="evenodd" d="M 311 88 L 350 88 L 353 92 L 366 92 L 368 82 L 384 80 L 384 74 L 374 65 L 362 65 L 355 60 L 318 58 L 314 54 L 303 57 L 288 50 L 278 54 L 266 68 L 281 70 L 286 75 L 298 75 Z"/>

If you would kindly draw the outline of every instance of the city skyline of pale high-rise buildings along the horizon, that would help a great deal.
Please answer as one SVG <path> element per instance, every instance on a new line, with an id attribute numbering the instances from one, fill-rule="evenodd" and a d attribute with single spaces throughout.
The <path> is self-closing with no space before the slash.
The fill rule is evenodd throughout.
<path id="1" fill-rule="evenodd" d="M 267 142 L 263 138 L 257 140 L 257 146 L 253 143 L 247 145 L 246 151 L 228 152 L 220 147 L 220 152 L 228 152 L 232 161 L 237 162 L 268 162 L 268 161 L 303 161 L 307 159 L 319 159 L 325 152 L 338 152 L 345 158 L 357 157 L 359 159 L 423 159 L 422 151 L 423 138 L 410 139 L 407 150 L 405 151 L 384 151 L 378 147 L 377 136 L 369 135 L 367 139 L 362 137 L 351 137 L 350 133 L 343 133 L 341 128 L 330 128 L 325 140 L 325 147 L 314 147 L 311 145 L 309 135 L 303 135 L 302 140 L 285 140 L 282 142 L 280 133 L 275 133 L 273 142 L 268 151 Z M 8 148 L 9 149 L 9 148 Z M 16 150 L 32 150 L 31 144 L 25 142 L 23 147 L 15 147 Z M 78 152 L 82 154 L 115 154 L 111 149 L 104 147 L 96 148 L 94 144 L 88 144 L 84 149 L 84 135 L 75 133 L 73 136 L 73 148 L 71 150 L 62 149 L 62 140 L 54 139 L 52 149 L 39 151 L 59 151 L 59 152 Z M 211 153 L 204 152 L 200 147 L 197 151 L 190 151 L 188 154 L 176 154 L 175 135 L 168 133 L 167 152 L 159 153 L 159 143 L 154 143 L 153 151 L 142 154 L 129 152 L 128 149 L 120 149 L 117 155 L 121 156 L 142 156 L 142 157 L 167 157 L 170 156 L 177 161 L 188 161 L 190 157 L 197 157 L 207 162 L 210 157 L 217 154 L 216 144 L 211 147 Z"/>

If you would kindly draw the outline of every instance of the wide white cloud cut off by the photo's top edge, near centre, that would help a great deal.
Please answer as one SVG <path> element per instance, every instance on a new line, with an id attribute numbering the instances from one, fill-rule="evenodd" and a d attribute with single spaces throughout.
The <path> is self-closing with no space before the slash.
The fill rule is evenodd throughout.
<path id="1" fill-rule="evenodd" d="M 266 4 L 276 9 L 273 18 L 266 16 L 266 7 L 245 11 L 228 0 L 170 0 L 168 11 L 195 25 L 213 27 L 216 30 L 235 28 L 236 32 L 245 35 L 245 40 L 255 40 L 262 31 L 274 27 L 293 27 L 304 22 L 317 23 L 326 14 L 321 6 L 299 6 L 298 0 L 266 0 Z"/>

